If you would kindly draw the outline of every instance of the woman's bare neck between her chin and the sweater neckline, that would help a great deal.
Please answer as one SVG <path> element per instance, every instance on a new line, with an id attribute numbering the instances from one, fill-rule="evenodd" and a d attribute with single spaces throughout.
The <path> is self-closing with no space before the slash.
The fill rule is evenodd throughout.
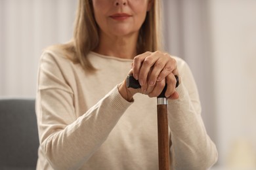
<path id="1" fill-rule="evenodd" d="M 94 51 L 105 56 L 133 59 L 137 55 L 137 37 L 137 34 L 125 37 L 111 37 L 101 34 L 100 43 Z"/>

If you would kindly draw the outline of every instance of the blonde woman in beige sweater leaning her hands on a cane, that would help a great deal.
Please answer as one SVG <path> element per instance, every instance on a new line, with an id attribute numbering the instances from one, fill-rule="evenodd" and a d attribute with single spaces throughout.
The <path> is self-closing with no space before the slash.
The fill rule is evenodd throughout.
<path id="1" fill-rule="evenodd" d="M 79 0 L 74 39 L 45 50 L 39 65 L 37 169 L 158 169 L 154 97 L 165 83 L 171 168 L 215 163 L 192 73 L 160 51 L 159 3 Z M 125 86 L 129 74 L 139 90 Z"/>

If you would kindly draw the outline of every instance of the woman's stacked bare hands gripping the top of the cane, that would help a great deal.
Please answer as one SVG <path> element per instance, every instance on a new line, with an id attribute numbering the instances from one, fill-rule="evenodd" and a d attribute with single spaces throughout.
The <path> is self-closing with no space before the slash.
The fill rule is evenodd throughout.
<path id="1" fill-rule="evenodd" d="M 177 62 L 169 54 L 160 51 L 144 52 L 133 59 L 132 69 L 133 76 L 140 82 L 142 93 L 157 97 L 167 84 L 165 97 L 179 98 L 175 91 L 175 75 L 179 76 Z"/>

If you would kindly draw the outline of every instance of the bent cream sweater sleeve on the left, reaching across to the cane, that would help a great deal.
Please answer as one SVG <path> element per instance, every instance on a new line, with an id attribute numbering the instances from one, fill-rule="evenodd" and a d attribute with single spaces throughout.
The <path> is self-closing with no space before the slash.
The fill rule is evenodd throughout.
<path id="1" fill-rule="evenodd" d="M 40 149 L 54 169 L 79 169 L 106 140 L 131 103 L 117 86 L 76 118 L 74 93 L 59 63 L 43 54 L 36 98 Z"/>

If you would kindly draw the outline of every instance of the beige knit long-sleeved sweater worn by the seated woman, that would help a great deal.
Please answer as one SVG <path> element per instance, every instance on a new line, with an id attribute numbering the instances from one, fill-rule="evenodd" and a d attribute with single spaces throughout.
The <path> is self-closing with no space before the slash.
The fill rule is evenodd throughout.
<path id="1" fill-rule="evenodd" d="M 117 89 L 132 60 L 95 52 L 88 58 L 98 69 L 95 74 L 57 52 L 41 56 L 37 169 L 158 169 L 156 99 L 138 93 L 129 103 Z M 192 73 L 175 59 L 182 83 L 179 99 L 168 106 L 171 168 L 207 169 L 217 161 L 217 150 L 202 122 Z"/>

